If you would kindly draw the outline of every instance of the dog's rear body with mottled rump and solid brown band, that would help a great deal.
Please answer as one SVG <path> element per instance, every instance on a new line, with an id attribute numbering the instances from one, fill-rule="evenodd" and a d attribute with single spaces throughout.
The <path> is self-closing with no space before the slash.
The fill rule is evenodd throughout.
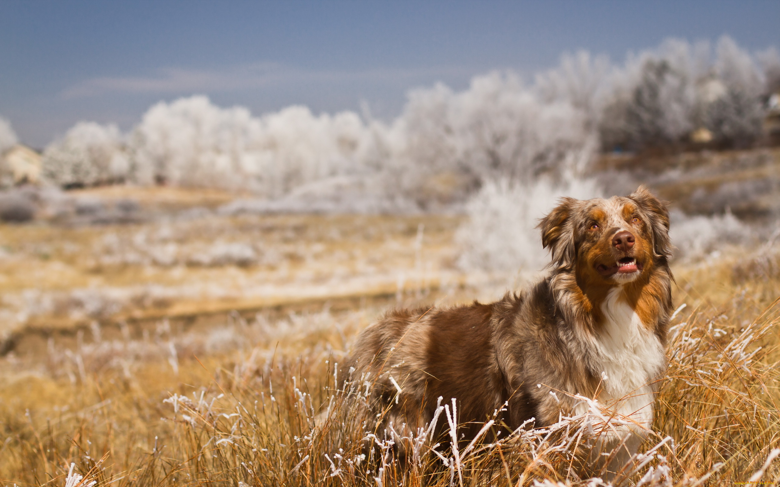
<path id="1" fill-rule="evenodd" d="M 443 404 L 455 397 L 459 420 L 476 426 L 509 399 L 496 361 L 495 308 L 517 304 L 507 297 L 492 305 L 388 312 L 361 333 L 349 364 L 353 377 L 368 372 L 364 380 L 374 386 L 379 408 L 393 406 L 387 421 L 396 428 L 406 423 L 415 431 L 430 422 L 438 397 Z"/>

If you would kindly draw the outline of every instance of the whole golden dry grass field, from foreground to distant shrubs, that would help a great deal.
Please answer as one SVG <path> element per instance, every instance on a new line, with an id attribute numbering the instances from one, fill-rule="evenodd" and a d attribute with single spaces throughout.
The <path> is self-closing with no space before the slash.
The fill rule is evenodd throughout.
<path id="1" fill-rule="evenodd" d="M 572 468 L 582 418 L 456 456 L 360 425 L 333 389 L 388 306 L 512 285 L 456 269 L 461 217 L 179 215 L 0 228 L 3 485 L 600 485 Z M 780 446 L 778 262 L 764 245 L 675 264 L 686 307 L 649 453 L 615 485 L 737 485 Z M 392 442 L 418 445 L 413 461 Z"/>

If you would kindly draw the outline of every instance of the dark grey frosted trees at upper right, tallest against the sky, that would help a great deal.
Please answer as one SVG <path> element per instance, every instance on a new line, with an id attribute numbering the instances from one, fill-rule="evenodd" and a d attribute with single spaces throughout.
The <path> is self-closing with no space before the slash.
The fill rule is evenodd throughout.
<path id="1" fill-rule="evenodd" d="M 714 60 L 708 43 L 679 40 L 629 57 L 615 72 L 602 116 L 603 146 L 636 150 L 680 143 L 702 126 L 719 143 L 752 143 L 761 135 L 761 95 L 768 94 L 768 78 L 778 76 L 772 52 L 756 56 L 763 70 L 728 36 L 718 41 Z"/>

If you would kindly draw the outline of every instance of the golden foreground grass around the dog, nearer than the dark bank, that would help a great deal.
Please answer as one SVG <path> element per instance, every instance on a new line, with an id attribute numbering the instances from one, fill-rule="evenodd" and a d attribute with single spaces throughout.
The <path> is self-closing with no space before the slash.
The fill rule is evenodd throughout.
<path id="1" fill-rule="evenodd" d="M 740 262 L 675 270 L 675 299 L 687 307 L 673 323 L 643 448 L 661 446 L 616 485 L 747 482 L 778 446 L 780 280 L 735 277 Z M 5 358 L 0 476 L 64 485 L 75 463 L 81 485 L 598 485 L 572 468 L 588 418 L 506 438 L 488 431 L 484 444 L 461 445 L 457 461 L 452 450 L 439 457 L 430 443 L 375 431 L 359 401 L 333 390 L 332 371 L 380 312 L 236 314 L 216 328 L 161 322 L 112 340 L 98 328 L 70 348 L 50 341 L 37 355 Z M 413 461 L 396 463 L 392 442 L 417 444 Z M 777 476 L 770 467 L 764 480 Z"/>

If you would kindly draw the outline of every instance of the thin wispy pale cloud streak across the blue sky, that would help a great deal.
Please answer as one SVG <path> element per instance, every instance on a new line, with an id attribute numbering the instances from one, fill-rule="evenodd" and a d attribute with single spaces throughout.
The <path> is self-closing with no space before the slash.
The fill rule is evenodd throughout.
<path id="1" fill-rule="evenodd" d="M 152 76 L 103 76 L 86 79 L 62 91 L 65 99 L 111 93 L 181 94 L 246 90 L 289 83 L 413 83 L 450 76 L 470 76 L 473 69 L 434 66 L 416 69 L 313 70 L 275 63 L 225 69 L 161 68 Z"/>

